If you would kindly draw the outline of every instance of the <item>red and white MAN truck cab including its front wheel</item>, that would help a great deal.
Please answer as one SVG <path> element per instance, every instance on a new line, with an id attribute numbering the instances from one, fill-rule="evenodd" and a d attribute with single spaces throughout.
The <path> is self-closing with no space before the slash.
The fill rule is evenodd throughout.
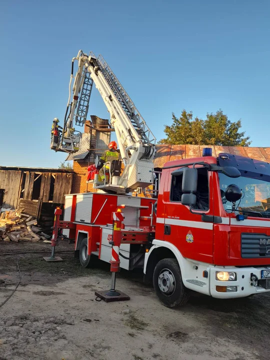
<path id="1" fill-rule="evenodd" d="M 183 304 L 188 289 L 218 298 L 270 291 L 269 181 L 268 163 L 231 154 L 164 165 L 144 273 L 166 306 Z"/>

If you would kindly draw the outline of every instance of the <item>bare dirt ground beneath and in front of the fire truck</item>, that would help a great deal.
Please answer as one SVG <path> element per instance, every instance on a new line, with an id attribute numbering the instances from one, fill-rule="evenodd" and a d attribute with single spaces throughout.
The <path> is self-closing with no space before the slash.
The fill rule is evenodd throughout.
<path id="1" fill-rule="evenodd" d="M 142 274 L 121 271 L 116 287 L 131 299 L 95 301 L 107 289 L 107 264 L 83 268 L 73 245 L 62 262 L 45 262 L 44 243 L 0 241 L 0 360 L 269 359 L 269 295 L 218 300 L 193 294 L 187 305 L 161 305 Z M 13 253 L 8 256 L 6 253 Z"/>

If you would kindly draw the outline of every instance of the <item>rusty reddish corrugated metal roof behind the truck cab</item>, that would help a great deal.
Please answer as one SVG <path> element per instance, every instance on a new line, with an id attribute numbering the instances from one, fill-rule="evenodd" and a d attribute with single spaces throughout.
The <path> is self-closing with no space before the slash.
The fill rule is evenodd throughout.
<path id="1" fill-rule="evenodd" d="M 270 147 L 243 146 L 212 146 L 212 145 L 156 145 L 154 167 L 163 167 L 164 163 L 172 160 L 197 157 L 202 155 L 204 147 L 211 147 L 213 156 L 220 152 L 241 155 L 257 160 L 270 162 Z"/>

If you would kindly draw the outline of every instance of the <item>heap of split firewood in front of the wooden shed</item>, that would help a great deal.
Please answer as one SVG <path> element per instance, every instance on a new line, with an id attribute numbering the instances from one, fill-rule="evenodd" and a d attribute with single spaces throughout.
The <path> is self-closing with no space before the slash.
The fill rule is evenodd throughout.
<path id="1" fill-rule="evenodd" d="M 0 240 L 18 242 L 47 238 L 42 235 L 42 229 L 33 216 L 23 213 L 23 209 L 16 209 L 0 212 Z"/>

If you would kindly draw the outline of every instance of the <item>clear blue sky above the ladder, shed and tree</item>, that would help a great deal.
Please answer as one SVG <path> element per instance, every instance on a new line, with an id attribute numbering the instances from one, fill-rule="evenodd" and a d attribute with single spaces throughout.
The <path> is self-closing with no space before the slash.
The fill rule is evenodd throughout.
<path id="1" fill-rule="evenodd" d="M 221 108 L 270 146 L 268 0 L 0 1 L 0 164 L 57 167 L 70 61 L 101 53 L 154 132 Z M 89 115 L 107 117 L 94 89 Z"/>

